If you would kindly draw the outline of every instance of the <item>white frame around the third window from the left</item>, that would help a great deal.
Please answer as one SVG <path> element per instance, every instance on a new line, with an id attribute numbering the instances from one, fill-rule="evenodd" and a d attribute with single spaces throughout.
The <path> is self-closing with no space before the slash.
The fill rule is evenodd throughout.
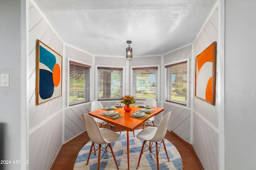
<path id="1" fill-rule="evenodd" d="M 143 65 L 143 66 L 131 66 L 130 67 L 130 95 L 133 94 L 133 84 L 132 84 L 132 79 L 133 79 L 133 74 L 132 74 L 132 69 L 133 68 L 148 68 L 148 67 L 157 67 L 157 84 L 158 84 L 158 87 L 157 87 L 157 101 L 160 101 L 160 65 Z M 144 98 L 138 98 L 136 100 L 147 100 L 147 99 L 144 99 Z"/>

